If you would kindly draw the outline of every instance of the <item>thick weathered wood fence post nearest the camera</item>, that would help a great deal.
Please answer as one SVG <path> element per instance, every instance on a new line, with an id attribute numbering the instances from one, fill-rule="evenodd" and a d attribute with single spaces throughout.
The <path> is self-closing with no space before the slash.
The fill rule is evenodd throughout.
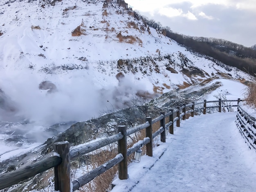
<path id="1" fill-rule="evenodd" d="M 62 159 L 61 164 L 54 167 L 55 191 L 72 192 L 70 189 L 70 143 L 67 141 L 54 143 L 54 152 Z"/>

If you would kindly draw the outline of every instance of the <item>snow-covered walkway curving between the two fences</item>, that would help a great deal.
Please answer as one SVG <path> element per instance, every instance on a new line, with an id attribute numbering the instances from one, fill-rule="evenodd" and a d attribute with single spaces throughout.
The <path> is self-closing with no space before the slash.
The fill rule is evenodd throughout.
<path id="1" fill-rule="evenodd" d="M 235 116 L 216 113 L 182 121 L 153 149 L 153 157 L 130 164 L 129 179 L 116 179 L 112 192 L 255 192 L 256 152 L 240 136 Z"/>

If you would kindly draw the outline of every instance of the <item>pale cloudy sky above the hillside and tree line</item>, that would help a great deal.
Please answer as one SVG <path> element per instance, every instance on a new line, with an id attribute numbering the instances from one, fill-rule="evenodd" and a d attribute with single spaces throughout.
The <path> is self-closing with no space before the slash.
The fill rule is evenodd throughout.
<path id="1" fill-rule="evenodd" d="M 256 44 L 256 0 L 125 0 L 177 33 Z"/>

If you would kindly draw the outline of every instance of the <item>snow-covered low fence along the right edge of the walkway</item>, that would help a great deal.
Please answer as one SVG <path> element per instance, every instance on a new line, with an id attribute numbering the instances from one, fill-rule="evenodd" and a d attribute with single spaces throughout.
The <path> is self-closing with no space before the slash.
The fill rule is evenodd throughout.
<path id="1" fill-rule="evenodd" d="M 236 114 L 236 126 L 240 134 L 245 138 L 245 143 L 250 149 L 254 148 L 256 150 L 256 119 L 238 105 Z"/>

